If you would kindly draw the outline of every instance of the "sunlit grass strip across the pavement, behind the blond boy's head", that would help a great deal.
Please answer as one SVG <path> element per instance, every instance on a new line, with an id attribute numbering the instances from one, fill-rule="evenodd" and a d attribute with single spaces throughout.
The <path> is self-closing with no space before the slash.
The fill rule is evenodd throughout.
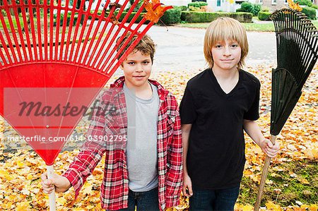
<path id="1" fill-rule="evenodd" d="M 312 20 L 312 23 L 318 28 L 318 20 Z M 208 28 L 210 23 L 179 23 L 176 26 L 186 28 Z M 255 32 L 274 32 L 272 21 L 260 21 L 259 23 L 242 23 L 247 31 Z"/>

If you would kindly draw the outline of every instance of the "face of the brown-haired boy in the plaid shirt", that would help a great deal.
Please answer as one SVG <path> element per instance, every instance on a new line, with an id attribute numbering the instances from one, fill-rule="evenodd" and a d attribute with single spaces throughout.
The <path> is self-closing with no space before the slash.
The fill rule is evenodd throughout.
<path id="1" fill-rule="evenodd" d="M 141 88 L 146 85 L 152 66 L 150 55 L 141 54 L 139 51 L 129 54 L 121 65 L 127 87 Z"/>

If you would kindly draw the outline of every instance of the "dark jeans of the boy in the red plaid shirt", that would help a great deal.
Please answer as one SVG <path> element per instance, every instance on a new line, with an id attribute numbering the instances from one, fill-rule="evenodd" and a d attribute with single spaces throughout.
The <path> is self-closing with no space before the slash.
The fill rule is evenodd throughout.
<path id="1" fill-rule="evenodd" d="M 153 188 L 151 191 L 134 192 L 129 190 L 128 208 L 121 209 L 122 211 L 149 210 L 159 211 L 158 188 Z"/>

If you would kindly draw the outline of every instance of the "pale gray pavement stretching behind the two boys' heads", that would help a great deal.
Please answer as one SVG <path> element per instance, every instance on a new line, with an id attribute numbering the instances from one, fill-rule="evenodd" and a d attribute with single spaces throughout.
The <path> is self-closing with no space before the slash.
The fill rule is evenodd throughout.
<path id="1" fill-rule="evenodd" d="M 202 69 L 204 29 L 153 26 L 148 31 L 155 43 L 154 71 Z M 274 32 L 247 32 L 249 54 L 247 66 L 276 64 L 276 37 Z"/>

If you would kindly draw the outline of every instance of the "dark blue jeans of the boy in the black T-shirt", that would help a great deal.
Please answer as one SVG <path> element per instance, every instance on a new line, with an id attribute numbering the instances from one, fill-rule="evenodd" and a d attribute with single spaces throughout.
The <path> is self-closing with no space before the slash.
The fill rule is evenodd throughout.
<path id="1" fill-rule="evenodd" d="M 234 210 L 239 192 L 240 186 L 214 191 L 193 189 L 189 210 Z"/>

